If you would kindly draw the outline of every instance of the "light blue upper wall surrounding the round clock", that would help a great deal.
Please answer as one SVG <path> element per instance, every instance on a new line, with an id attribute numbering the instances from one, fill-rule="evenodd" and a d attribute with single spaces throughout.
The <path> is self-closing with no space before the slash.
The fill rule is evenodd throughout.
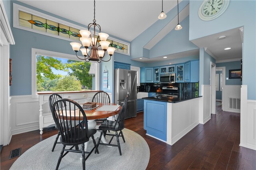
<path id="1" fill-rule="evenodd" d="M 203 0 L 190 1 L 189 39 L 194 40 L 243 26 L 244 43 L 242 84 L 247 85 L 248 87 L 248 100 L 256 100 L 256 1 L 230 0 L 227 10 L 220 17 L 211 21 L 203 21 L 198 17 L 198 9 L 202 2 Z"/>

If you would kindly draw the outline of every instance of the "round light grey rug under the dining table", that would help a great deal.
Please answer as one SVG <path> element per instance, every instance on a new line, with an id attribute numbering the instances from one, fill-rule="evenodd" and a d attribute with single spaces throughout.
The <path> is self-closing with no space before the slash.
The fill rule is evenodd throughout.
<path id="1" fill-rule="evenodd" d="M 148 166 L 150 158 L 150 150 L 146 141 L 129 129 L 123 130 L 125 143 L 122 137 L 119 137 L 122 156 L 120 156 L 118 147 L 99 146 L 99 154 L 94 152 L 86 160 L 87 170 L 142 170 Z M 62 144 L 57 144 L 54 152 L 52 152 L 52 145 L 56 135 L 45 139 L 35 146 L 24 152 L 12 164 L 10 170 L 53 170 L 56 168 Z M 110 136 L 106 136 L 106 140 L 110 140 Z M 96 139 L 97 143 L 98 139 Z M 113 144 L 116 144 L 116 137 L 114 137 Z M 70 146 L 66 146 L 70 148 Z M 81 149 L 81 146 L 79 147 Z M 93 148 L 93 142 L 90 141 L 87 151 Z M 86 154 L 87 155 L 87 154 Z M 62 158 L 60 162 L 60 170 L 79 170 L 82 169 L 82 154 L 69 152 Z"/>

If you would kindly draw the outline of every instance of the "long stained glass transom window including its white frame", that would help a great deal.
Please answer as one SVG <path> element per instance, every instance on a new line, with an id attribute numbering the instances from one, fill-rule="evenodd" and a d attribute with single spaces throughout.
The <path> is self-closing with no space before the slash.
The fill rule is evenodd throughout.
<path id="1" fill-rule="evenodd" d="M 81 43 L 79 31 L 88 29 L 15 3 L 13 4 L 13 27 L 78 43 Z M 130 43 L 112 37 L 108 37 L 107 41 L 110 42 L 110 47 L 116 49 L 115 53 L 130 55 Z"/>

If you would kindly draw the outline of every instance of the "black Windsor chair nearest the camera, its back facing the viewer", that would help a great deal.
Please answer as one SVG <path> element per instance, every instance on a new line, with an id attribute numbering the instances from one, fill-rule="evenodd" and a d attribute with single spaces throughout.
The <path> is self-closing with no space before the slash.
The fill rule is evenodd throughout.
<path id="1" fill-rule="evenodd" d="M 87 117 L 84 113 L 84 109 L 73 100 L 60 99 L 53 104 L 52 109 L 54 121 L 58 126 L 61 135 L 60 143 L 63 145 L 56 170 L 60 166 L 62 158 L 68 152 L 82 153 L 82 166 L 83 170 L 85 170 L 85 161 L 93 150 L 95 149 L 95 152 L 99 153 L 93 136 L 96 133 L 96 129 L 88 129 Z M 70 119 L 72 119 L 72 121 L 70 121 Z M 90 137 L 92 138 L 94 147 L 90 152 L 85 152 L 84 143 L 88 142 Z M 78 148 L 73 149 L 80 144 L 82 144 L 82 150 L 78 150 Z M 70 149 L 65 149 L 66 145 L 72 147 Z M 64 151 L 66 152 L 64 153 Z M 88 155 L 85 157 L 85 154 Z"/>

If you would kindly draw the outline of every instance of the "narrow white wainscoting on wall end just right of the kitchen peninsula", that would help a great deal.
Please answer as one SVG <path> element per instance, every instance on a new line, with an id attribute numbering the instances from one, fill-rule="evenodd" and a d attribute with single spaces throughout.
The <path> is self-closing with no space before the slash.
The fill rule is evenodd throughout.
<path id="1" fill-rule="evenodd" d="M 211 86 L 202 85 L 201 90 L 202 90 L 201 91 L 202 98 L 199 104 L 199 107 L 200 107 L 199 123 L 204 124 L 211 119 L 211 112 L 210 112 Z"/>

